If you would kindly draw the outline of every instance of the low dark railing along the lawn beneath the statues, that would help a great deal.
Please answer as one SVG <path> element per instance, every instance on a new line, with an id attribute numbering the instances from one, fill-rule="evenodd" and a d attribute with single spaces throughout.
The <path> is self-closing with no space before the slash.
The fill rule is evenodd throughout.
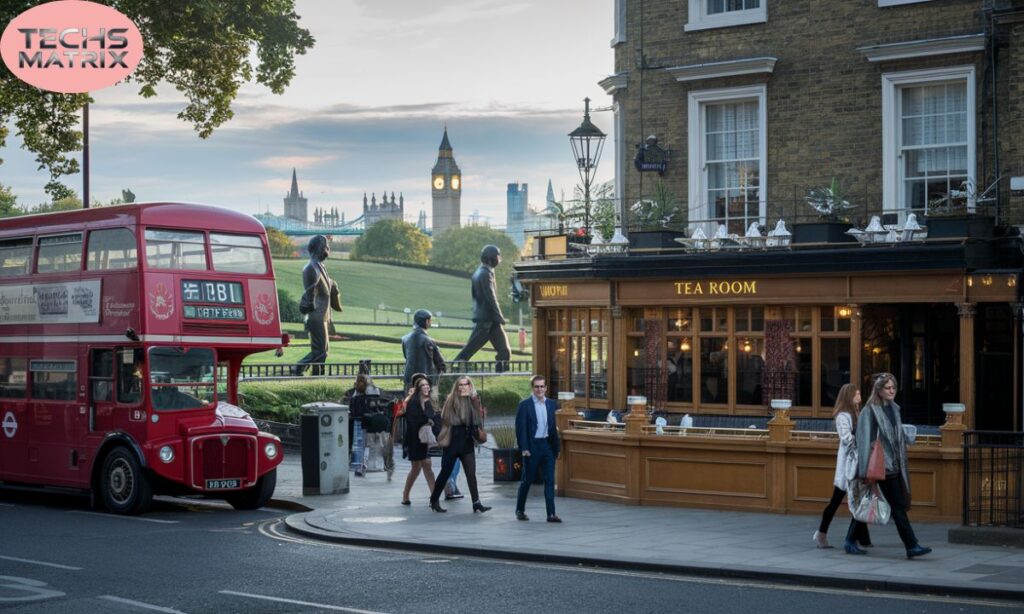
<path id="1" fill-rule="evenodd" d="M 467 375 L 512 375 L 529 376 L 532 375 L 532 360 L 509 360 L 498 368 L 498 362 L 494 360 L 469 360 L 452 361 L 447 363 L 447 374 Z M 305 371 L 297 375 L 297 369 L 304 367 Z M 311 375 L 314 370 L 321 370 L 316 375 Z M 293 378 L 354 378 L 359 374 L 367 374 L 373 378 L 401 378 L 406 372 L 404 362 L 373 362 L 364 360 L 359 362 L 332 362 L 327 364 L 290 364 L 285 362 L 257 363 L 242 365 L 242 379 L 244 380 L 278 380 Z"/>

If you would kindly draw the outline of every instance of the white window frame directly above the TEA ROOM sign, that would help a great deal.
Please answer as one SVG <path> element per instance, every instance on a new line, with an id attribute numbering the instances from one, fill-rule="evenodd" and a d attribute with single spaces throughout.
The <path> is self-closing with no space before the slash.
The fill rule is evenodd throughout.
<path id="1" fill-rule="evenodd" d="M 690 228 L 695 228 L 693 220 L 708 220 L 711 215 L 711 204 L 705 202 L 707 193 L 707 169 L 705 163 L 705 121 L 703 107 L 715 102 L 739 102 L 757 100 L 758 102 L 758 217 L 764 225 L 768 208 L 768 86 L 754 85 L 749 87 L 733 87 L 724 89 L 697 90 L 689 93 L 688 122 L 689 132 L 689 219 Z M 714 232 L 714 223 L 703 224 L 705 232 Z M 708 234 L 711 236 L 711 234 Z"/>

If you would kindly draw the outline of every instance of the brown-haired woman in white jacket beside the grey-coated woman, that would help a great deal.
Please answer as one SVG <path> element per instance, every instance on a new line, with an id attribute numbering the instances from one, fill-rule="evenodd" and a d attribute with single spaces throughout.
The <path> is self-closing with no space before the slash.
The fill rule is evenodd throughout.
<path id="1" fill-rule="evenodd" d="M 836 476 L 833 479 L 833 495 L 824 512 L 821 513 L 821 524 L 818 530 L 814 531 L 814 543 L 821 549 L 831 547 L 828 545 L 828 526 L 843 497 L 850 480 L 857 475 L 857 439 L 856 422 L 860 406 L 860 391 L 853 384 L 846 384 L 840 388 L 836 397 L 836 409 L 833 411 L 833 420 L 836 422 L 836 432 L 839 434 L 839 450 L 836 452 Z M 870 546 L 871 538 L 867 533 L 867 525 L 854 519 L 851 523 L 850 531 L 854 538 L 848 539 L 844 545 L 846 552 L 851 555 L 864 554 L 864 551 L 857 546 Z"/>

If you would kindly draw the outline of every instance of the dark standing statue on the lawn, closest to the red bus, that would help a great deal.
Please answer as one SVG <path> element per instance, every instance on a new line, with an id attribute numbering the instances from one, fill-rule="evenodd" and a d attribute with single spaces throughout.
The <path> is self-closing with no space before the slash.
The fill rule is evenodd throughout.
<path id="1" fill-rule="evenodd" d="M 301 376 L 309 365 L 312 375 L 324 375 L 327 361 L 328 330 L 331 325 L 331 311 L 341 311 L 341 291 L 327 272 L 324 262 L 331 255 L 331 247 L 323 234 L 309 239 L 306 248 L 309 262 L 302 268 L 302 299 L 299 311 L 306 316 L 306 332 L 309 333 L 309 353 L 295 367 L 294 374 Z"/>

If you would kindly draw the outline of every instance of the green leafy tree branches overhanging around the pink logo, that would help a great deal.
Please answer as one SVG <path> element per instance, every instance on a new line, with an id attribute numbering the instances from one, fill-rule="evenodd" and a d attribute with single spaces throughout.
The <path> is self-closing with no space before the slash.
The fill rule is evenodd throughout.
<path id="1" fill-rule="evenodd" d="M 201 138 L 231 119 L 239 87 L 254 76 L 271 92 L 285 91 L 295 76 L 295 55 L 314 42 L 309 31 L 299 28 L 294 0 L 96 1 L 126 14 L 142 35 L 144 55 L 129 81 L 139 85 L 145 98 L 157 95 L 160 83 L 173 85 L 188 99 L 178 118 L 190 122 Z M 0 24 L 36 4 L 0 4 Z M 0 63 L 0 147 L 13 121 L 25 148 L 49 172 L 46 191 L 54 201 L 70 195 L 58 179 L 79 170 L 78 161 L 68 154 L 82 148 L 80 112 L 89 99 L 88 94 L 37 89 Z"/>

